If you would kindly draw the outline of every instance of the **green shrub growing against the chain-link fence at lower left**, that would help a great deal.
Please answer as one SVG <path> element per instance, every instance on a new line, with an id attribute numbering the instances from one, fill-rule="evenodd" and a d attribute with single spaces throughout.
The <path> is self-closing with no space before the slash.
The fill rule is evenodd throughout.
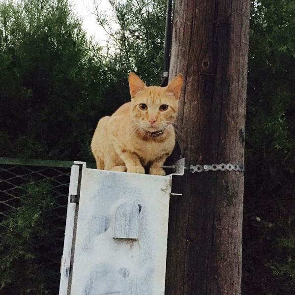
<path id="1" fill-rule="evenodd" d="M 43 265 L 40 244 L 54 241 L 51 216 L 53 199 L 48 182 L 30 183 L 21 206 L 2 222 L 0 233 L 0 294 L 53 294 L 49 271 Z M 56 290 L 57 291 L 57 290 Z"/>

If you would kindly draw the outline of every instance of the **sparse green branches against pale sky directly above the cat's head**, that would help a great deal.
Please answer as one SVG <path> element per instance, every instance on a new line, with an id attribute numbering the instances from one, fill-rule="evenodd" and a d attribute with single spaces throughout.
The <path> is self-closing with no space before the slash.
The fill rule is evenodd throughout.
<path id="1" fill-rule="evenodd" d="M 166 3 L 166 0 L 110 0 L 109 17 L 96 6 L 97 20 L 110 36 L 106 50 L 109 66 L 123 77 L 135 71 L 148 85 L 160 84 Z"/>

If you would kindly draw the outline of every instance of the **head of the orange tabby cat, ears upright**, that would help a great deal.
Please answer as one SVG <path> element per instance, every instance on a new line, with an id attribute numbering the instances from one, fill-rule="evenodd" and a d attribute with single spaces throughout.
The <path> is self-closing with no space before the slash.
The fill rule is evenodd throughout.
<path id="1" fill-rule="evenodd" d="M 130 73 L 131 111 L 136 127 L 148 132 L 171 130 L 171 124 L 177 117 L 181 86 L 181 74 L 167 87 L 147 87 L 136 74 Z"/>

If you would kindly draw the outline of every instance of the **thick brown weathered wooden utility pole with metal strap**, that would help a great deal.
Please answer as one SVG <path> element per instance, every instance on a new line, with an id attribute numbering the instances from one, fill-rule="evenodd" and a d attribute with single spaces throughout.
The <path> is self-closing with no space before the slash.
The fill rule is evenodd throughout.
<path id="1" fill-rule="evenodd" d="M 184 77 L 186 166 L 244 163 L 250 0 L 177 0 L 170 77 Z M 166 295 L 239 295 L 242 172 L 186 172 L 170 206 Z"/>

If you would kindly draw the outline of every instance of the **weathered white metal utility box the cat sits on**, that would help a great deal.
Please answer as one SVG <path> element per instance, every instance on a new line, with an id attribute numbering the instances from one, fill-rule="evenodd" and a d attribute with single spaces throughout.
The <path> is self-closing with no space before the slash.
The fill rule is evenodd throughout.
<path id="1" fill-rule="evenodd" d="M 59 295 L 164 295 L 172 177 L 75 163 Z"/>

